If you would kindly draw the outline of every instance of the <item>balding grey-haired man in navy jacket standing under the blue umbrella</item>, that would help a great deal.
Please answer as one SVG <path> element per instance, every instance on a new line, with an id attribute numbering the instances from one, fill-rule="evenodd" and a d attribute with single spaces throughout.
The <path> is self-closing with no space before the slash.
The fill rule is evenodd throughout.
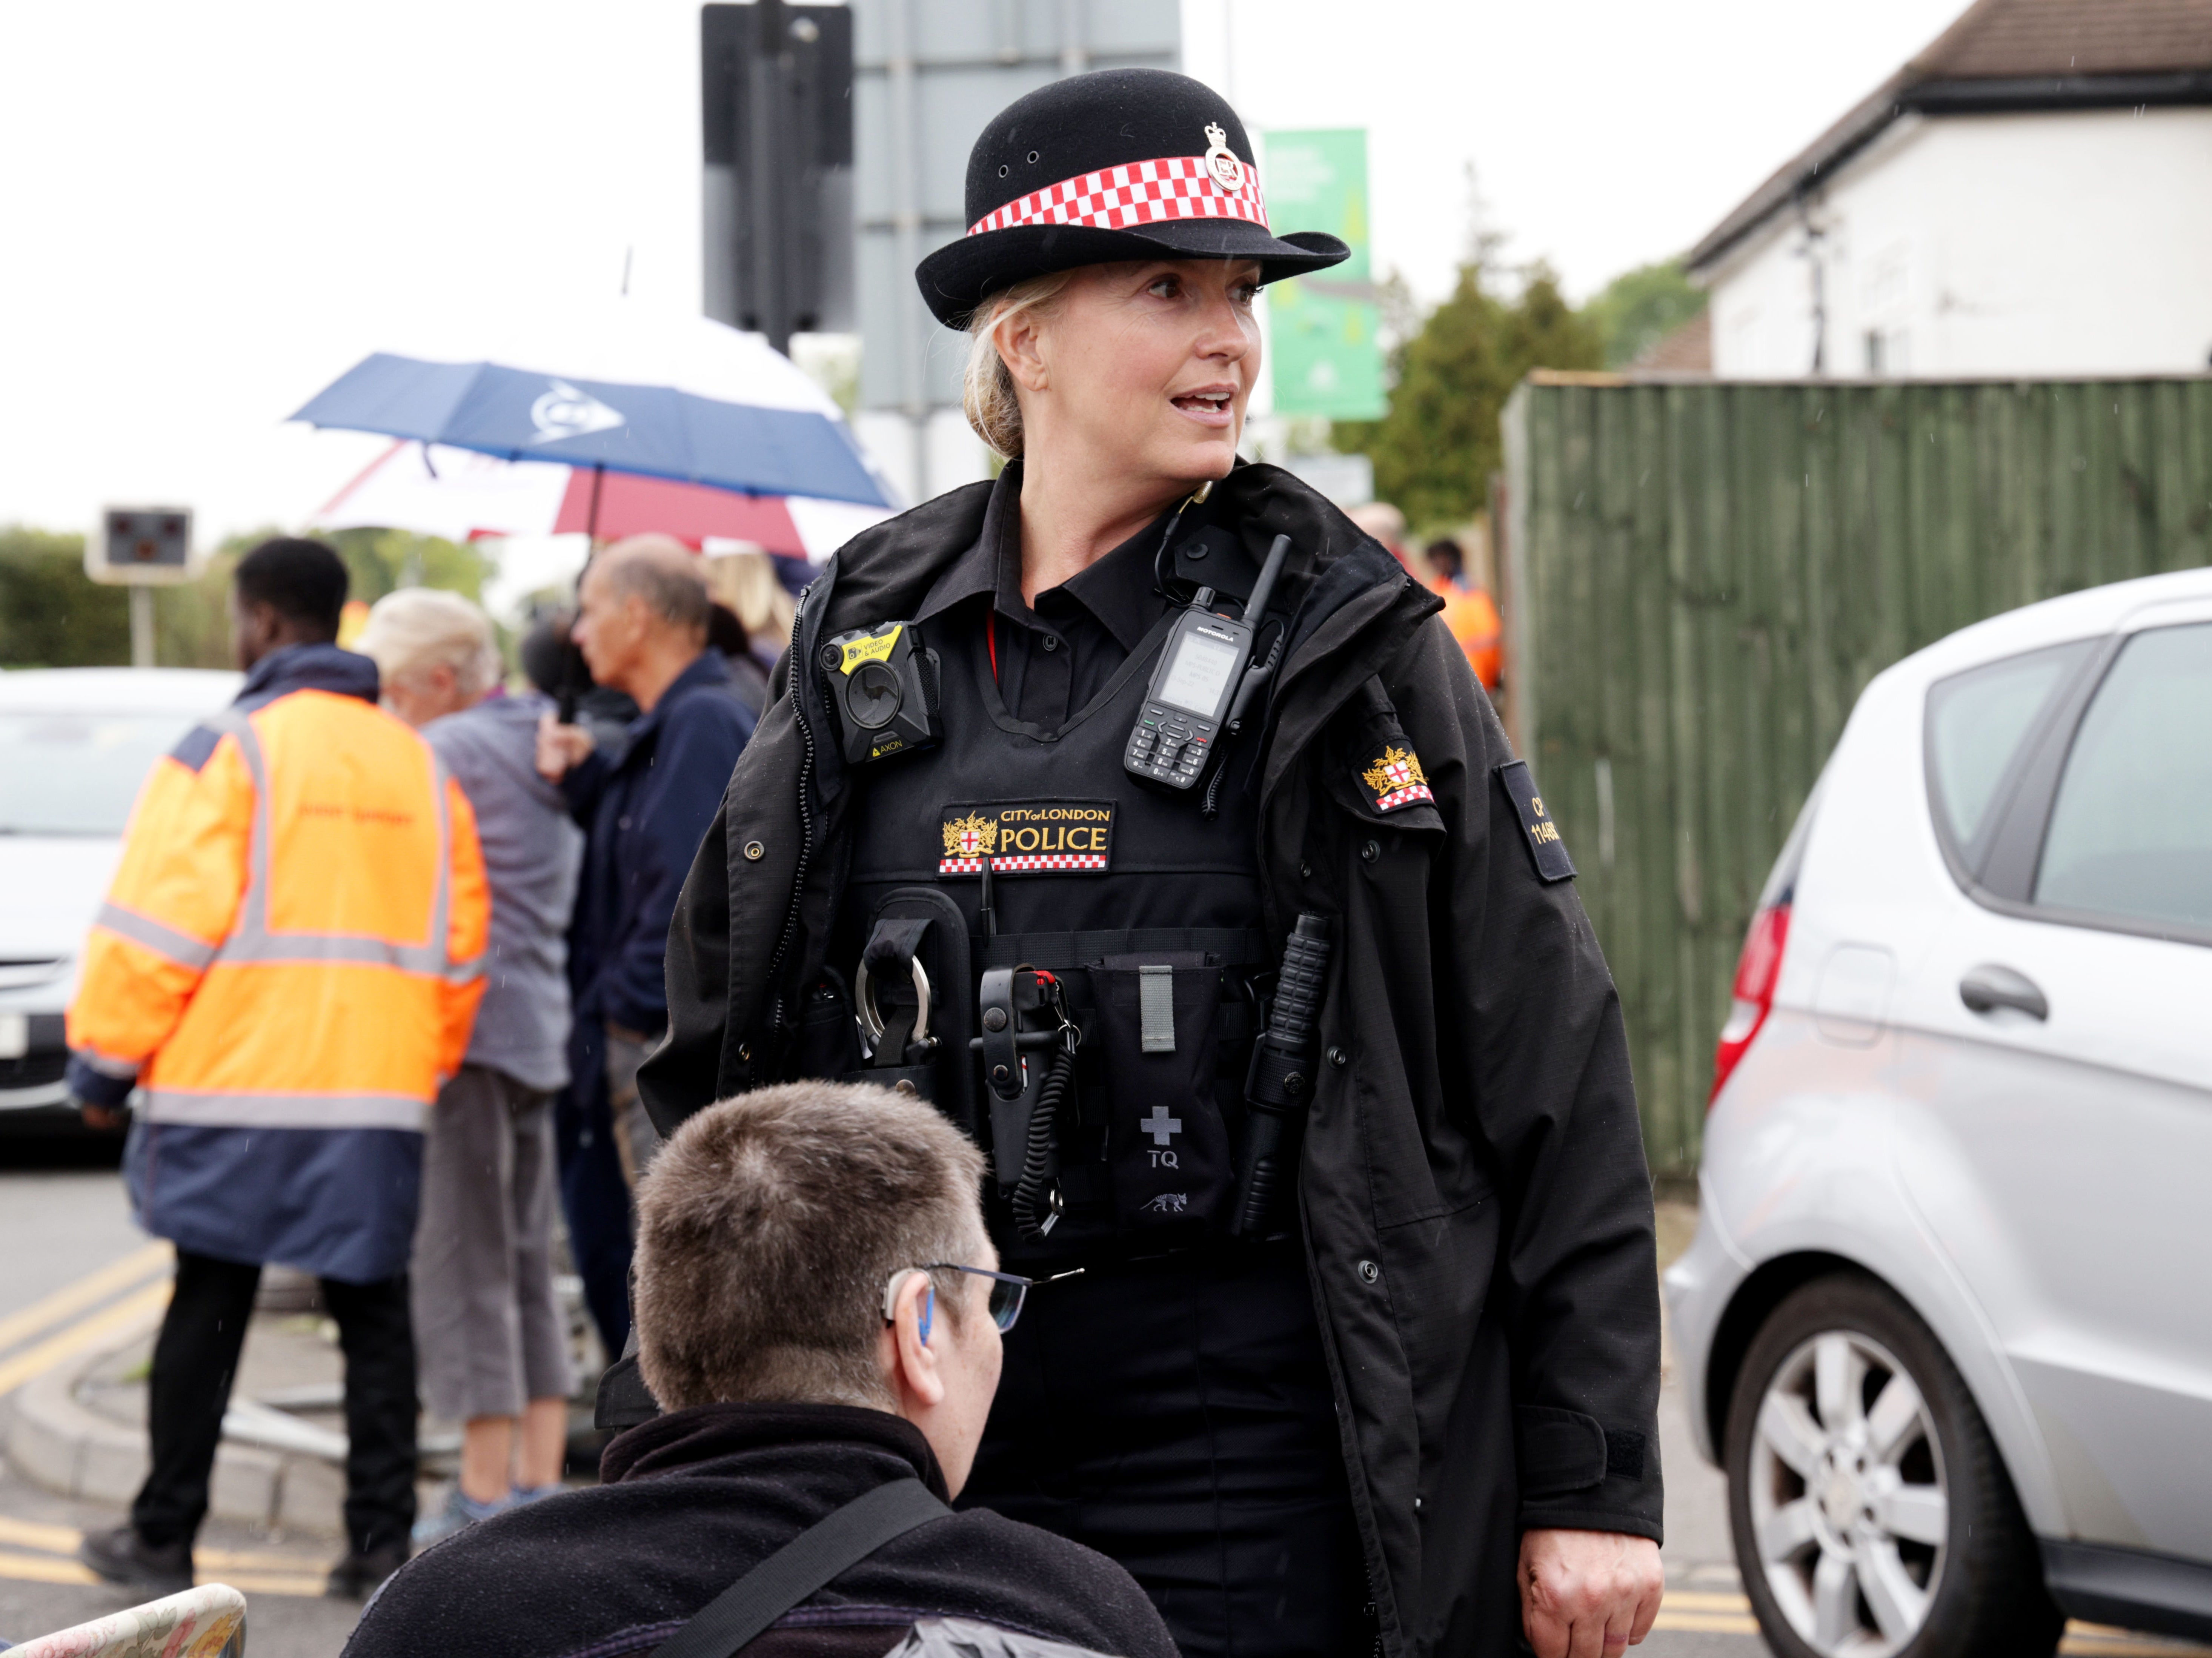
<path id="1" fill-rule="evenodd" d="M 538 769 L 586 831 L 568 935 L 575 1081 L 560 1101 L 562 1207 L 599 1340 L 619 1353 L 630 1333 L 628 1189 L 659 1145 L 637 1103 L 637 1068 L 668 1024 L 668 917 L 752 714 L 708 650 L 706 575 L 681 542 L 615 542 L 586 566 L 577 597 L 575 643 L 593 681 L 639 707 L 613 754 L 551 714 L 538 727 Z"/>

